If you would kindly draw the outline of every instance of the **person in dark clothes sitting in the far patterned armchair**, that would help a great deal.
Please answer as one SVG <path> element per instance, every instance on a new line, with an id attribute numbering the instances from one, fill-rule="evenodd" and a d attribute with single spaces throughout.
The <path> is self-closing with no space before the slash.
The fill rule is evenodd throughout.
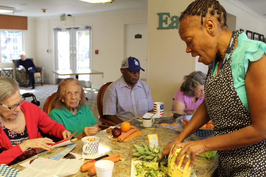
<path id="1" fill-rule="evenodd" d="M 35 78 L 34 78 L 34 73 L 36 72 L 36 67 L 31 59 L 26 58 L 26 53 L 25 52 L 20 52 L 19 53 L 20 58 L 18 60 L 18 68 L 25 68 L 26 72 L 29 76 L 29 85 L 32 86 L 32 89 L 35 89 Z"/>

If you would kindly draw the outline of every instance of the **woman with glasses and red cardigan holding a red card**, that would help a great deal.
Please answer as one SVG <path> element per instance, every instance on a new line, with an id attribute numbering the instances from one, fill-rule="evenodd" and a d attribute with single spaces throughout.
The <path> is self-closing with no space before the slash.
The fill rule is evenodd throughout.
<path id="1" fill-rule="evenodd" d="M 0 77 L 0 163 L 15 164 L 36 152 L 33 148 L 52 149 L 53 140 L 43 133 L 65 139 L 70 132 L 62 124 L 51 120 L 39 107 L 25 101 L 18 83 L 10 77 Z M 12 163 L 11 163 L 12 162 Z"/>

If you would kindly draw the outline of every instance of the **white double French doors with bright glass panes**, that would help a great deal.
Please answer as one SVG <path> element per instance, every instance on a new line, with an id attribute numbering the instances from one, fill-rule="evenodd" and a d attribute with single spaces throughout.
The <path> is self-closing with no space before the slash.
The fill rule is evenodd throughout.
<path id="1" fill-rule="evenodd" d="M 88 26 L 54 28 L 56 70 L 91 69 L 90 33 L 91 27 Z M 79 75 L 79 80 L 89 81 L 90 76 Z"/>

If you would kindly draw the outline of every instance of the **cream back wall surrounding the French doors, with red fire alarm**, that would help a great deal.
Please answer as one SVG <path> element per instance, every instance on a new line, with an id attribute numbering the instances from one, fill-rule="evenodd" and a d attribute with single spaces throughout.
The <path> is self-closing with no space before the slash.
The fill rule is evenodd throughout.
<path id="1" fill-rule="evenodd" d="M 101 75 L 93 75 L 93 87 L 99 88 L 105 82 L 115 81 L 121 76 L 123 24 L 146 21 L 147 11 L 76 15 L 68 18 L 67 22 L 60 21 L 58 16 L 38 18 L 36 31 L 39 34 L 36 35 L 36 53 L 38 53 L 39 65 L 45 66 L 45 82 L 54 83 L 55 81 L 55 75 L 52 73 L 54 70 L 54 27 L 92 26 L 92 69 L 104 72 L 104 78 Z M 46 53 L 49 45 L 52 53 Z M 95 49 L 99 50 L 98 55 L 94 54 Z"/>

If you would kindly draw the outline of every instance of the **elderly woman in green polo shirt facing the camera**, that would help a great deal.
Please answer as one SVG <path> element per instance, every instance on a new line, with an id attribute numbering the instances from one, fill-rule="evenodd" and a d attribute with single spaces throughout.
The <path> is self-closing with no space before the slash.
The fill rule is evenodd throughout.
<path id="1" fill-rule="evenodd" d="M 58 85 L 51 119 L 63 124 L 71 133 L 78 130 L 76 138 L 91 136 L 99 130 L 97 120 L 85 104 L 86 96 L 78 79 L 66 78 Z"/>

